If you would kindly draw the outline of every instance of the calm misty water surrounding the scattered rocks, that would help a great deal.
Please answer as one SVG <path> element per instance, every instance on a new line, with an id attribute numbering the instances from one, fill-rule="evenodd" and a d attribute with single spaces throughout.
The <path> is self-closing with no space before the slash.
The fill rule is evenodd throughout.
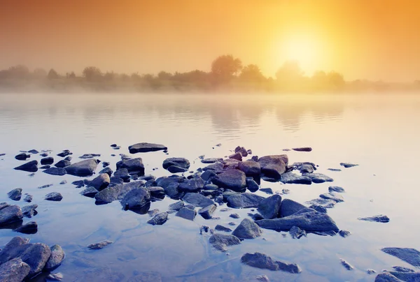
<path id="1" fill-rule="evenodd" d="M 407 263 L 382 253 L 380 248 L 400 246 L 420 249 L 420 150 L 419 96 L 141 96 L 100 95 L 0 95 L 0 202 L 6 193 L 23 188 L 34 195 L 38 215 L 35 235 L 0 230 L 0 245 L 12 237 L 30 237 L 31 242 L 59 244 L 66 259 L 57 271 L 64 281 L 127 281 L 139 272 L 158 272 L 163 281 L 255 281 L 266 274 L 271 281 L 374 281 L 366 274 Z M 71 184 L 78 177 L 57 177 L 38 171 L 13 170 L 20 150 L 63 149 L 73 152 L 73 161 L 85 153 L 102 154 L 111 168 L 137 142 L 157 142 L 169 148 L 169 156 L 186 157 L 193 170 L 203 167 L 197 157 L 221 157 L 237 145 L 258 156 L 282 154 L 282 149 L 310 146 L 307 152 L 289 151 L 290 163 L 312 161 L 318 172 L 334 178 L 332 185 L 346 189 L 344 202 L 328 214 L 340 229 L 339 236 L 291 239 L 264 230 L 263 236 L 230 247 L 229 255 L 215 251 L 209 236 L 200 235 L 202 224 L 211 228 L 229 221 L 240 223 L 249 209 L 234 210 L 239 219 L 216 211 L 220 220 L 194 222 L 170 215 L 162 226 L 146 224 L 148 215 L 122 211 L 119 202 L 96 206 L 79 195 Z M 119 151 L 109 147 L 117 143 Z M 221 143 L 221 147 L 215 147 Z M 214 149 L 212 149 L 214 147 Z M 111 156 L 117 154 L 117 156 Z M 161 168 L 168 156 L 153 152 L 137 154 L 144 160 L 146 174 L 169 175 Z M 32 155 L 32 159 L 39 156 Z M 59 160 L 56 157 L 55 160 Z M 194 162 L 195 161 L 195 162 Z M 340 162 L 358 163 L 355 168 L 331 172 Z M 153 171 L 153 168 L 159 168 Z M 98 171 L 102 165 L 98 166 Z M 67 184 L 59 185 L 66 179 Z M 49 188 L 38 186 L 53 184 Z M 288 188 L 291 198 L 304 202 L 328 192 L 331 184 L 280 184 L 262 181 L 262 188 Z M 43 200 L 47 193 L 62 193 L 61 202 Z M 265 195 L 258 192 L 260 195 Z M 151 209 L 166 211 L 174 202 L 165 198 Z M 23 206 L 23 201 L 15 202 Z M 386 214 L 389 223 L 358 221 L 360 216 Z M 25 222 L 29 221 L 25 218 Z M 86 246 L 109 239 L 114 244 L 87 251 Z M 273 258 L 295 262 L 301 274 L 270 272 L 242 265 L 246 252 L 260 251 Z M 339 258 L 355 267 L 348 271 Z M 42 281 L 40 278 L 38 281 Z"/>

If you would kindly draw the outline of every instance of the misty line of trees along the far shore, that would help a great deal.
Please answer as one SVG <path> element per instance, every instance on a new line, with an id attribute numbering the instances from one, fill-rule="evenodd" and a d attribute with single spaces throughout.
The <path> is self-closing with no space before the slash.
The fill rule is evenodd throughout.
<path id="1" fill-rule="evenodd" d="M 265 77 L 255 64 L 244 66 L 232 55 L 222 55 L 211 63 L 211 71 L 200 70 L 186 73 L 160 71 L 157 75 L 146 73 L 102 72 L 95 66 L 87 66 L 82 75 L 73 71 L 59 74 L 54 69 L 36 68 L 29 71 L 24 65 L 12 66 L 0 71 L 0 87 L 40 87 L 53 90 L 70 90 L 75 87 L 97 91 L 264 91 L 264 92 L 339 92 L 360 90 L 387 90 L 395 85 L 384 82 L 355 80 L 346 82 L 341 73 L 316 71 L 305 75 L 297 61 L 286 61 L 274 77 Z M 398 86 L 400 89 L 401 85 Z M 405 85 L 407 89 L 420 89 L 420 82 Z"/>

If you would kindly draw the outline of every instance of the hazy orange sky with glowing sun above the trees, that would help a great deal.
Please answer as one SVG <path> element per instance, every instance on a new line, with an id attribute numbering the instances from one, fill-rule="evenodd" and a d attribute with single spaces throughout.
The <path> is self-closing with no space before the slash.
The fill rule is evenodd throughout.
<path id="1" fill-rule="evenodd" d="M 220 54 L 272 76 L 420 79 L 416 0 L 0 0 L 0 68 L 208 71 Z"/>

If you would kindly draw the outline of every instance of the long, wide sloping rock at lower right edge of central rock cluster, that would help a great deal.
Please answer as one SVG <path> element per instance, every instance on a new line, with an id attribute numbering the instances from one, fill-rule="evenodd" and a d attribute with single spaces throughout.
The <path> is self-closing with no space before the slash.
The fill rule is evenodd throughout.
<path id="1" fill-rule="evenodd" d="M 283 205 L 283 204 L 281 204 Z M 262 219 L 255 221 L 261 228 L 288 231 L 293 226 L 296 226 L 307 232 L 338 232 L 339 229 L 335 222 L 327 214 L 322 214 L 314 209 L 301 209 L 295 214 L 282 218 Z"/>

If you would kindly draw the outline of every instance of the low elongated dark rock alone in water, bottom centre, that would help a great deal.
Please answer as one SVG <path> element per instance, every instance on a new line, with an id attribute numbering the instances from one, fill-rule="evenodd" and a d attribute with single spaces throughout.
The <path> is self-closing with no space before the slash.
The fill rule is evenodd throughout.
<path id="1" fill-rule="evenodd" d="M 250 267 L 257 267 L 260 269 L 282 270 L 283 272 L 300 273 L 302 270 L 295 263 L 288 264 L 279 260 L 273 260 L 268 255 L 263 253 L 246 253 L 242 255 L 241 262 Z"/>

